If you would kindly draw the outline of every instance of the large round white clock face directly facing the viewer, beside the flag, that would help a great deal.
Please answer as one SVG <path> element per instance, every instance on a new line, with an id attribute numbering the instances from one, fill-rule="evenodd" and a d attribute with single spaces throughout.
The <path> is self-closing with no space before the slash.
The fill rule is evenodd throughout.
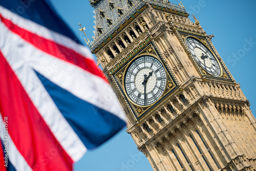
<path id="1" fill-rule="evenodd" d="M 146 106 L 156 102 L 164 93 L 166 73 L 162 63 L 152 56 L 135 59 L 126 70 L 124 87 L 129 99 Z"/>

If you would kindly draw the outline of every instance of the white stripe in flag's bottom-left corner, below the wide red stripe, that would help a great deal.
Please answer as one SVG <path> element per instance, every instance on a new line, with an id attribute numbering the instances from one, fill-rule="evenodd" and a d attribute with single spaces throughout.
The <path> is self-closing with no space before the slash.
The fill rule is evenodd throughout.
<path id="1" fill-rule="evenodd" d="M 8 118 L 11 119 L 11 118 Z M 10 126 L 10 125 L 8 125 Z M 0 138 L 2 139 L 3 143 L 5 142 L 4 138 L 4 121 L 0 114 Z M 8 161 L 12 163 L 14 168 L 17 171 L 32 171 L 31 167 L 24 159 L 24 157 L 19 153 L 18 149 L 16 148 L 15 144 L 13 143 L 11 136 L 8 133 Z M 2 145 L 2 144 L 1 144 Z M 1 156 L 2 157 L 2 156 Z M 1 163 L 2 164 L 2 163 Z M 10 163 L 8 164 L 10 166 Z"/>

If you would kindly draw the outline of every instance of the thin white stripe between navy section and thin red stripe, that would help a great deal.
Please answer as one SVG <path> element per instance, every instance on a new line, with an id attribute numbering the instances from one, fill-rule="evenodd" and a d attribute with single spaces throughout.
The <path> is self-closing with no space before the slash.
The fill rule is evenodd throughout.
<path id="1" fill-rule="evenodd" d="M 69 37 L 66 37 L 62 34 L 49 30 L 48 28 L 38 25 L 29 19 L 23 18 L 11 12 L 10 10 L 4 8 L 3 6 L 0 6 L 0 14 L 9 20 L 12 20 L 12 23 L 17 25 L 20 28 L 23 28 L 27 31 L 30 31 L 31 33 L 34 33 L 48 40 L 55 41 L 59 45 L 72 49 L 75 52 L 81 54 L 82 56 L 93 60 L 93 55 L 91 54 L 88 48 L 80 44 L 77 44 L 77 42 L 75 42 Z"/>

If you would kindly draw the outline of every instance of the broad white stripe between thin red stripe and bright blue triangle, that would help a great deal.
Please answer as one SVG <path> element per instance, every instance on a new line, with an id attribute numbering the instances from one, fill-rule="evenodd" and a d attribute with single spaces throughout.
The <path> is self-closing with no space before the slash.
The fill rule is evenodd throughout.
<path id="1" fill-rule="evenodd" d="M 6 29 L 6 27 L 1 27 L 1 29 L 2 28 L 3 30 Z M 116 99 L 116 95 L 108 82 L 69 62 L 39 51 L 16 34 L 9 31 L 6 31 L 6 33 L 3 32 L 2 34 L 5 34 L 8 38 L 11 47 L 8 47 L 7 43 L 3 45 L 4 39 L 0 40 L 0 47 L 2 47 L 4 54 L 9 53 L 10 57 L 8 61 L 13 63 L 12 65 L 16 65 L 15 63 L 19 62 L 20 66 L 26 65 L 29 68 L 34 68 L 37 72 L 62 89 L 126 121 L 121 106 Z M 14 37 L 15 42 L 13 41 Z M 15 49 L 16 51 L 10 52 L 9 49 Z M 17 54 L 20 54 L 19 57 L 17 57 Z M 17 67 L 17 69 L 19 69 L 19 67 Z M 26 74 L 30 73 L 30 71 L 27 72 Z M 24 73 L 24 71 L 19 71 L 18 74 L 20 73 Z M 24 73 L 24 75 L 26 74 Z M 28 82 L 26 81 L 27 78 L 22 77 L 21 74 L 18 77 L 20 81 L 24 83 Z M 31 86 L 33 87 L 33 80 L 30 82 L 28 88 Z M 27 91 L 29 91 L 29 89 Z"/>

